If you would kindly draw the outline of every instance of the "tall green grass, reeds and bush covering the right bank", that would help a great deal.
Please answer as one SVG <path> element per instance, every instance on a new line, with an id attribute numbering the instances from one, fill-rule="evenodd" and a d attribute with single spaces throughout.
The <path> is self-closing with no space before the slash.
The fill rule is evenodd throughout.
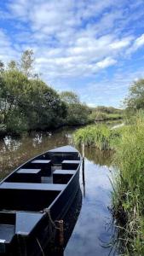
<path id="1" fill-rule="evenodd" d="M 79 146 L 113 150 L 112 214 L 118 227 L 113 241 L 120 255 L 144 255 L 144 79 L 130 86 L 124 100 L 124 126 L 88 125 L 75 131 Z"/>

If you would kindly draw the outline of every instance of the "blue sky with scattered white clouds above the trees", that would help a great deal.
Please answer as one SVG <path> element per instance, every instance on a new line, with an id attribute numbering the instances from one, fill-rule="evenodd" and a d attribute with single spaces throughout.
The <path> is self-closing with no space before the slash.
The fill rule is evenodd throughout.
<path id="1" fill-rule="evenodd" d="M 1 0 L 0 60 L 19 61 L 26 49 L 55 90 L 122 107 L 144 78 L 144 0 Z"/>

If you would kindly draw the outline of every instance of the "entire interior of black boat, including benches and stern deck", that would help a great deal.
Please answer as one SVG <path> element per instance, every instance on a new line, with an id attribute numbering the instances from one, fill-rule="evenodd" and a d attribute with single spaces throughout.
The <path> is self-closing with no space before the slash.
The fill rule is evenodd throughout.
<path id="1" fill-rule="evenodd" d="M 43 209 L 66 188 L 81 160 L 75 148 L 68 148 L 29 160 L 0 183 L 0 244 L 9 243 L 15 233 L 30 233 Z"/>

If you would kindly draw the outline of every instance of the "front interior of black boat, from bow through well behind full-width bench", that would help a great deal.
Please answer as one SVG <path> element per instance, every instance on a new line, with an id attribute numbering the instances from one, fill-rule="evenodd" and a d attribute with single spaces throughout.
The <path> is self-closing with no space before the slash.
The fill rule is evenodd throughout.
<path id="1" fill-rule="evenodd" d="M 43 211 L 66 188 L 79 164 L 78 151 L 53 150 L 26 162 L 0 183 L 0 212 Z"/>

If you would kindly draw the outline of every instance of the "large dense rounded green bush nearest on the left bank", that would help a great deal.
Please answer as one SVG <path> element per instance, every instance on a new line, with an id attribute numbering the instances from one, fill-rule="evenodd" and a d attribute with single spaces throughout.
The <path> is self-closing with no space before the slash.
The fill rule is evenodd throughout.
<path id="1" fill-rule="evenodd" d="M 28 78 L 14 61 L 0 73 L 0 85 L 0 120 L 8 133 L 55 128 L 66 117 L 66 104 L 57 92 Z"/>

